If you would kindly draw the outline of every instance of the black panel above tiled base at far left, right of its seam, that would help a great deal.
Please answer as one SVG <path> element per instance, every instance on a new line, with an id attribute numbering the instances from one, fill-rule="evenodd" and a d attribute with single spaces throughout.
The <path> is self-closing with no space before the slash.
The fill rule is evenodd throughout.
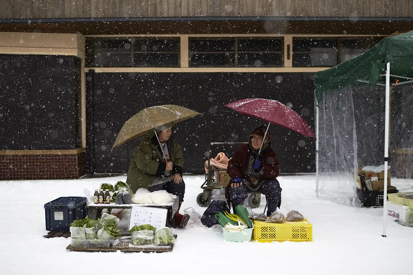
<path id="1" fill-rule="evenodd" d="M 80 62 L 74 56 L 30 56 L 31 149 L 79 146 Z"/>

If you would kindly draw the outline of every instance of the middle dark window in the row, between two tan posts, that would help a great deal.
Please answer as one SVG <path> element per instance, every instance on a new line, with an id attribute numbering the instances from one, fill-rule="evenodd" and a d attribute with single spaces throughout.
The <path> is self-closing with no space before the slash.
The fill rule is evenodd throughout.
<path id="1" fill-rule="evenodd" d="M 191 67 L 282 67 L 283 40 L 191 38 Z"/>

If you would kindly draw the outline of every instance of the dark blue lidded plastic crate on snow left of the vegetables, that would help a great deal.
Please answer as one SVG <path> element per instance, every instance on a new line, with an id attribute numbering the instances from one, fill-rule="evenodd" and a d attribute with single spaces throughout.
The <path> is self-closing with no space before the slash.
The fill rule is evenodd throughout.
<path id="1" fill-rule="evenodd" d="M 85 219 L 85 197 L 59 197 L 45 204 L 46 230 L 69 231 L 70 224 L 77 219 Z"/>

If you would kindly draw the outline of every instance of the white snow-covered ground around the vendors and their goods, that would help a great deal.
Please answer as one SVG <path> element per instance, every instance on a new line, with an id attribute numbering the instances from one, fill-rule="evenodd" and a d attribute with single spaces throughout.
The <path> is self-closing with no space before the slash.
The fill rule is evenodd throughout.
<path id="1" fill-rule="evenodd" d="M 195 198 L 204 176 L 184 179 L 183 209 L 194 207 L 202 214 L 204 208 Z M 173 252 L 162 254 L 69 252 L 65 249 L 69 240 L 42 237 L 47 233 L 46 202 L 83 195 L 84 188 L 92 191 L 101 182 L 119 180 L 125 181 L 126 176 L 0 181 L 5 191 L 0 201 L 0 274 L 411 274 L 413 228 L 389 220 L 387 238 L 381 237 L 382 209 L 356 209 L 318 199 L 314 176 L 279 177 L 281 211 L 286 214 L 296 209 L 306 216 L 313 224 L 314 241 L 310 243 L 226 242 L 222 232 L 198 225 L 174 230 L 178 242 Z"/>

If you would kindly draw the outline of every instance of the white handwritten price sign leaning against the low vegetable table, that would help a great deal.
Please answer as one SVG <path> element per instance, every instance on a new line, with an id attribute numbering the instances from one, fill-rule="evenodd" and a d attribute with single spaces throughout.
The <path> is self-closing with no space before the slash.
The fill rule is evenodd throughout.
<path id="1" fill-rule="evenodd" d="M 164 208 L 133 206 L 129 229 L 142 224 L 150 224 L 156 228 L 166 226 L 167 214 L 168 210 Z"/>

